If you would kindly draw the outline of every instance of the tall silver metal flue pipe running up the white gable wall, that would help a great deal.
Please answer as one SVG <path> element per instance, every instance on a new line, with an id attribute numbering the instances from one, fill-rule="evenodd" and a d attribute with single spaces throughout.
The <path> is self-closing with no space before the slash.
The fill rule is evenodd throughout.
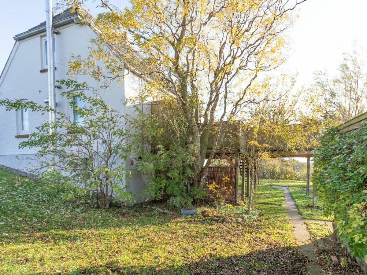
<path id="1" fill-rule="evenodd" d="M 52 29 L 52 0 L 46 0 L 46 37 L 47 37 L 47 74 L 48 74 L 48 106 L 50 107 L 50 135 L 55 132 L 55 60 L 54 32 Z M 51 144 L 51 150 L 54 144 Z"/>

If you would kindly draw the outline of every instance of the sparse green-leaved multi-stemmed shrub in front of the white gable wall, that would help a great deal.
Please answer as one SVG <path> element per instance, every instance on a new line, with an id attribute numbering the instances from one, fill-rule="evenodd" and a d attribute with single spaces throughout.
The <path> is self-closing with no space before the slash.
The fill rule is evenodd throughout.
<path id="1" fill-rule="evenodd" d="M 37 164 L 32 172 L 39 172 L 40 179 L 48 185 L 62 188 L 65 198 L 88 195 L 94 197 L 102 209 L 109 208 L 111 201 L 132 202 L 131 192 L 123 186 L 126 179 L 124 162 L 131 151 L 131 146 L 125 142 L 128 137 L 125 115 L 109 108 L 97 91 L 87 96 L 84 93 L 88 89 L 86 83 L 59 82 L 68 90 L 76 90 L 61 94 L 68 99 L 74 118 L 54 110 L 54 124 L 46 120 L 29 139 L 19 144 L 19 148 L 36 150 Z M 51 110 L 32 101 L 9 99 L 0 100 L 0 106 L 7 110 L 22 107 L 42 113 Z M 50 126 L 56 129 L 52 134 Z"/>

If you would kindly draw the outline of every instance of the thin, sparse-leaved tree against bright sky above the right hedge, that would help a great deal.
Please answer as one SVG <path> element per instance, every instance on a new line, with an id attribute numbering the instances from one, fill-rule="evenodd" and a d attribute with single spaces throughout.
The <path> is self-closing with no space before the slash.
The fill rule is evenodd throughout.
<path id="1" fill-rule="evenodd" d="M 363 51 L 354 47 L 343 53 L 338 74 L 330 79 L 327 72 L 315 73 L 314 88 L 323 94 L 325 119 L 337 124 L 350 120 L 367 110 L 367 74 Z"/>

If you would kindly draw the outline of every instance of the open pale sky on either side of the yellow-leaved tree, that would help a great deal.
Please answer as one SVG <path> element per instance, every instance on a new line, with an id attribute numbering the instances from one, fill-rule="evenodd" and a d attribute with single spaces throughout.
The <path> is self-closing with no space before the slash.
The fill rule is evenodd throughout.
<path id="1" fill-rule="evenodd" d="M 112 0 L 120 7 L 127 0 Z M 96 1 L 86 1 L 96 13 Z M 15 34 L 45 20 L 45 1 L 3 1 L 0 10 L 0 70 L 14 45 Z M 359 40 L 367 51 L 366 0 L 308 0 L 300 6 L 297 22 L 289 31 L 292 55 L 282 70 L 299 73 L 301 83 L 309 83 L 315 70 L 328 69 L 333 74 L 343 51 Z"/>

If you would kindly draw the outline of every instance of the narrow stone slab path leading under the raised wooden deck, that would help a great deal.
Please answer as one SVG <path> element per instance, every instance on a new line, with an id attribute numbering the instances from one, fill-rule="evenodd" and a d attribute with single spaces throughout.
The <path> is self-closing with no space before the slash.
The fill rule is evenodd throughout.
<path id="1" fill-rule="evenodd" d="M 299 214 L 298 208 L 289 193 L 289 189 L 283 186 L 273 186 L 274 188 L 279 188 L 284 191 L 284 197 L 286 200 L 286 210 L 294 229 L 293 235 L 295 236 L 299 251 L 306 257 L 308 257 L 312 262 L 308 264 L 307 270 L 313 275 L 324 274 L 321 267 L 316 263 L 317 258 L 315 255 L 316 247 L 310 239 L 310 234 L 307 231 L 305 219 Z M 315 220 L 308 220 L 315 221 Z M 315 221 L 321 222 L 321 221 Z"/>

